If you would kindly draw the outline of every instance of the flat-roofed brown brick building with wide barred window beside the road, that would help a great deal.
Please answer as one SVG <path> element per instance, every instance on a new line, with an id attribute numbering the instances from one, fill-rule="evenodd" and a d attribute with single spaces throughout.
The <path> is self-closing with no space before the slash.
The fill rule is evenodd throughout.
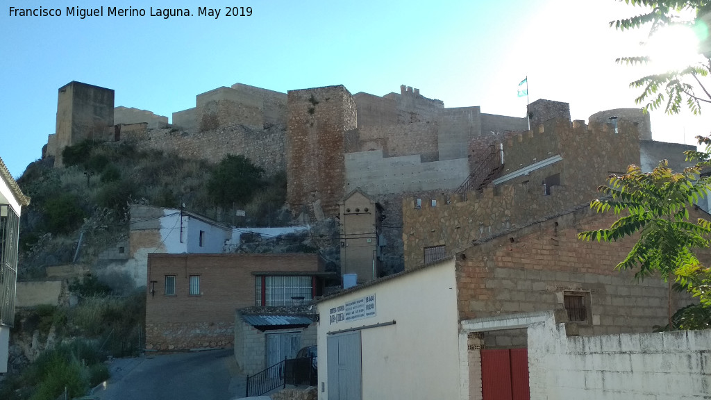
<path id="1" fill-rule="evenodd" d="M 322 278 L 328 275 L 319 272 L 316 254 L 151 254 L 146 349 L 239 348 L 242 344 L 234 342 L 237 309 L 259 306 L 273 315 L 269 307 L 309 304 L 322 294 Z M 294 315 L 287 311 L 277 315 Z M 290 325 L 274 324 L 264 331 Z"/>

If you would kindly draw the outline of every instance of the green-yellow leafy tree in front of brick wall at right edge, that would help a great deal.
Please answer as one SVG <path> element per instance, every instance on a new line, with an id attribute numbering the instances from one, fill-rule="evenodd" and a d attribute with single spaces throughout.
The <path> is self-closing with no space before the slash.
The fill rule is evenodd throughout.
<path id="1" fill-rule="evenodd" d="M 707 248 L 711 223 L 698 219 L 689 221 L 688 207 L 704 198 L 711 189 L 711 179 L 700 177 L 700 165 L 673 173 L 663 160 L 652 172 L 643 173 L 630 165 L 626 174 L 611 175 L 598 191 L 604 199 L 590 204 L 597 212 L 613 211 L 626 214 L 610 228 L 578 233 L 584 241 L 618 241 L 625 236 L 638 236 L 637 242 L 617 270 L 637 269 L 636 278 L 659 273 L 669 285 L 668 322 L 672 323 L 672 283 L 676 281 L 700 297 L 702 304 L 711 304 L 708 293 L 710 270 L 702 266 L 694 254 L 695 248 Z"/>

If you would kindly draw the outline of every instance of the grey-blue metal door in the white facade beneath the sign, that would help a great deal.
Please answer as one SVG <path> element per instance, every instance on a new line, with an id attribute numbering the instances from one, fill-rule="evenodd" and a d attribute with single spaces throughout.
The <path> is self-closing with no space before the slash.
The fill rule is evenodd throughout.
<path id="1" fill-rule="evenodd" d="M 328 400 L 362 400 L 360 331 L 329 336 Z"/>

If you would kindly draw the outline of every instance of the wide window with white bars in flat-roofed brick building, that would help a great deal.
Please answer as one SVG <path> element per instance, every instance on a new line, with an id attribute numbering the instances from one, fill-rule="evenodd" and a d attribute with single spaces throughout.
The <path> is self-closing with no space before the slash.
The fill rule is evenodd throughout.
<path id="1" fill-rule="evenodd" d="M 301 305 L 314 298 L 311 276 L 257 276 L 255 305 Z"/>

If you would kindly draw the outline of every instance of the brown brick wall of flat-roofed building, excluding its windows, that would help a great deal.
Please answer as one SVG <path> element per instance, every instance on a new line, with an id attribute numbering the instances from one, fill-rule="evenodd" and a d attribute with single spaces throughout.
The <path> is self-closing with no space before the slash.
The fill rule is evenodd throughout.
<path id="1" fill-rule="evenodd" d="M 146 348 L 231 347 L 235 309 L 255 304 L 252 272 L 316 269 L 315 254 L 150 254 Z M 176 275 L 175 295 L 164 295 L 165 275 Z M 200 275 L 201 295 L 188 295 L 190 275 Z"/>

